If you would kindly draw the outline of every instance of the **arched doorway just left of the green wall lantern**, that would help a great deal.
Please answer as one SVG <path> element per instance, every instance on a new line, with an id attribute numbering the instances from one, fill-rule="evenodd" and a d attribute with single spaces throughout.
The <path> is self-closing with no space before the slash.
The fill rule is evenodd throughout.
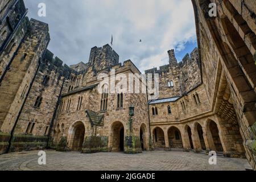
<path id="1" fill-rule="evenodd" d="M 124 150 L 125 130 L 119 121 L 114 122 L 111 127 L 110 147 L 113 152 Z"/>

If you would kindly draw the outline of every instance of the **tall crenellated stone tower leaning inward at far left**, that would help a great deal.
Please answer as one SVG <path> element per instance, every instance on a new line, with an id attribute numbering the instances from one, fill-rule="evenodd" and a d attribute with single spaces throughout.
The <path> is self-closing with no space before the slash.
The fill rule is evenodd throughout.
<path id="1" fill-rule="evenodd" d="M 49 42 L 48 25 L 46 23 L 31 19 L 30 25 L 31 28 L 17 50 L 0 87 L 1 98 L 5 98 L 0 104 L 0 130 L 4 135 L 11 133 L 11 137 L 20 110 L 26 102 L 28 88 L 38 71 L 39 60 Z M 38 31 L 39 28 L 40 31 Z M 1 149 L 5 150 L 8 144 L 7 139 L 5 139 Z"/>

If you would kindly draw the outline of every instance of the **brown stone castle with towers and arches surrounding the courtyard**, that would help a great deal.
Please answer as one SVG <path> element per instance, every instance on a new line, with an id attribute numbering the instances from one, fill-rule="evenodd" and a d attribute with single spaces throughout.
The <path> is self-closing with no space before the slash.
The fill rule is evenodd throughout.
<path id="1" fill-rule="evenodd" d="M 98 92 L 101 73 L 141 74 L 108 44 L 93 47 L 88 63 L 63 65 L 47 49 L 48 24 L 28 20 L 23 0 L 2 0 L 0 153 L 217 151 L 256 169 L 256 2 L 192 3 L 198 48 L 180 63 L 170 50 L 168 65 L 145 71 L 159 74 L 159 98 L 148 100 Z"/>

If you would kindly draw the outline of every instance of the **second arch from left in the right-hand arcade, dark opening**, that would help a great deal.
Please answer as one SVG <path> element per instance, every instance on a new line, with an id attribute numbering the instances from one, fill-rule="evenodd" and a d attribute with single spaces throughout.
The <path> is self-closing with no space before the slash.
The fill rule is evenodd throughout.
<path id="1" fill-rule="evenodd" d="M 183 148 L 180 130 L 172 126 L 168 130 L 168 139 L 170 148 Z"/>

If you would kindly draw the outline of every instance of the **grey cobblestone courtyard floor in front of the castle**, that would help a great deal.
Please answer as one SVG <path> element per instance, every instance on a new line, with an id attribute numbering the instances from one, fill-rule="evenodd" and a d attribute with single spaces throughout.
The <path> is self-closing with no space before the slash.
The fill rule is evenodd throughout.
<path id="1" fill-rule="evenodd" d="M 0 170 L 245 170 L 246 159 L 217 156 L 217 165 L 209 165 L 209 156 L 193 152 L 147 151 L 128 155 L 122 152 L 80 154 L 46 151 L 46 165 L 38 164 L 38 151 L 0 155 Z"/>

